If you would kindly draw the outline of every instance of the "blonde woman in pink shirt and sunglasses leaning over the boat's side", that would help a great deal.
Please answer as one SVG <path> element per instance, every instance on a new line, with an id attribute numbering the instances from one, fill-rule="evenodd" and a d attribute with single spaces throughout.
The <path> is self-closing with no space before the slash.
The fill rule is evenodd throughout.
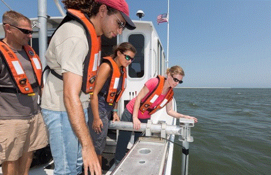
<path id="1" fill-rule="evenodd" d="M 173 88 L 182 83 L 183 76 L 182 68 L 176 65 L 167 70 L 166 77 L 157 76 L 148 80 L 138 95 L 126 105 L 121 121 L 132 121 L 134 129 L 138 130 L 141 122 L 147 123 L 151 114 L 166 106 L 169 116 L 190 118 L 197 122 L 197 118 L 182 115 L 172 109 Z M 141 134 L 135 132 L 134 140 L 136 141 Z M 131 131 L 120 131 L 115 154 L 116 164 L 125 156 L 130 137 Z"/>

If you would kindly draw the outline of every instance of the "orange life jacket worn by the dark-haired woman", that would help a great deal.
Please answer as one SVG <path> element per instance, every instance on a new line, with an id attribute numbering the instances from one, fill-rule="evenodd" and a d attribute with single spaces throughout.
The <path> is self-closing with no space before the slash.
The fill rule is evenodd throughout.
<path id="1" fill-rule="evenodd" d="M 127 77 L 126 68 L 122 67 L 122 73 L 123 73 L 122 85 L 121 85 L 121 90 L 117 92 L 119 80 L 121 77 L 120 69 L 112 57 L 104 57 L 103 59 L 106 62 L 109 62 L 112 67 L 111 81 L 110 81 L 110 85 L 107 92 L 107 98 L 106 98 L 106 102 L 112 105 L 114 102 L 118 102 L 120 100 L 120 97 L 126 88 L 126 77 Z"/>

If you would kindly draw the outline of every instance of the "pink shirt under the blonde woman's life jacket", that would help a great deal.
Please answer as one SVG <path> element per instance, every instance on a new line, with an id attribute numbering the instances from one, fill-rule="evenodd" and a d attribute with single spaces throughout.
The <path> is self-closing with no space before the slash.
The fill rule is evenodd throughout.
<path id="1" fill-rule="evenodd" d="M 150 90 L 150 92 L 142 99 L 142 100 L 145 100 L 152 92 L 152 90 L 158 85 L 159 83 L 159 80 L 158 78 L 152 78 L 150 80 L 148 80 L 146 83 L 145 83 L 145 86 Z M 162 95 L 160 94 L 159 97 L 153 102 L 153 104 L 151 105 L 151 109 L 153 109 L 155 106 L 157 106 L 161 101 L 164 100 L 165 98 L 165 95 Z M 127 110 L 129 111 L 129 113 L 133 114 L 133 111 L 134 111 L 134 104 L 135 104 L 135 100 L 136 100 L 136 97 L 133 98 L 127 105 L 126 105 L 126 108 Z M 151 116 L 148 114 L 149 112 L 148 111 L 145 111 L 144 113 L 142 113 L 140 110 L 138 110 L 138 118 L 141 118 L 141 119 L 145 119 L 145 118 L 151 118 Z"/>

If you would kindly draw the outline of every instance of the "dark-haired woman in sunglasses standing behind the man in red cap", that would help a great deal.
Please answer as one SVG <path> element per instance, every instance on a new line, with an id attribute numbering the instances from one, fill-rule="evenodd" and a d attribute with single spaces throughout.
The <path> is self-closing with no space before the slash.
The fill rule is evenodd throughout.
<path id="1" fill-rule="evenodd" d="M 111 57 L 103 58 L 90 99 L 89 128 L 100 164 L 106 144 L 109 119 L 119 121 L 117 103 L 125 89 L 126 67 L 133 61 L 136 49 L 127 42 L 121 43 Z"/>

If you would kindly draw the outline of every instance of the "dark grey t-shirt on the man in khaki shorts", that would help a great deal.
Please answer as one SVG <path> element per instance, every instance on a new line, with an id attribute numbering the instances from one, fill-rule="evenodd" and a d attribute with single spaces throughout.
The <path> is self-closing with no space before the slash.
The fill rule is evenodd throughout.
<path id="1" fill-rule="evenodd" d="M 13 50 L 13 52 L 20 60 L 30 84 L 37 83 L 25 50 Z M 0 87 L 17 88 L 3 59 L 0 57 Z M 37 105 L 39 87 L 35 87 L 33 90 L 35 92 L 33 96 L 22 93 L 0 92 L 0 119 L 26 118 L 36 115 L 40 111 Z"/>

